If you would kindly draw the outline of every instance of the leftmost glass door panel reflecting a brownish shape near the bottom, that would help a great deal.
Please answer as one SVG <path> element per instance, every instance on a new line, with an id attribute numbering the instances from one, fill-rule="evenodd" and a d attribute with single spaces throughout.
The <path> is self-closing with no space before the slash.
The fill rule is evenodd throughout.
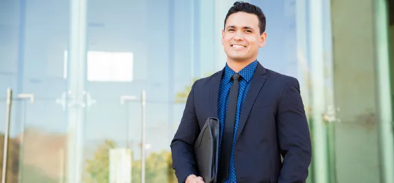
<path id="1" fill-rule="evenodd" d="M 0 12 L 1 181 L 62 182 L 69 1 L 1 1 Z"/>

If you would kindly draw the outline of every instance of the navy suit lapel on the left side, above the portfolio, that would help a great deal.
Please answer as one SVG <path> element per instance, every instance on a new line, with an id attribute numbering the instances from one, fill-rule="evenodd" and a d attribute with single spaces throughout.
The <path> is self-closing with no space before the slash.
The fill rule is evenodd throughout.
<path id="1" fill-rule="evenodd" d="M 223 75 L 224 69 L 214 74 L 212 80 L 209 82 L 209 89 L 210 89 L 210 114 L 212 117 L 218 117 L 217 113 L 217 102 L 219 100 L 219 88 L 220 88 L 220 81 Z"/>

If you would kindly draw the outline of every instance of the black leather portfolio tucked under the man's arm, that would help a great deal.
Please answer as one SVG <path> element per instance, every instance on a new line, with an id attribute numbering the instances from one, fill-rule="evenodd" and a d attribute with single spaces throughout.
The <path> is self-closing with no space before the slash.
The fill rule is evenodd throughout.
<path id="1" fill-rule="evenodd" d="M 195 142 L 194 154 L 199 176 L 204 182 L 217 182 L 219 167 L 219 119 L 210 117 Z"/>

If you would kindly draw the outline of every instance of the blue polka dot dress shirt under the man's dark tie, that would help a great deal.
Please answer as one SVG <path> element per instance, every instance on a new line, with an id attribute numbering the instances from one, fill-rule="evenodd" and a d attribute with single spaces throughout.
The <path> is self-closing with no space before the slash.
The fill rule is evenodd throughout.
<path id="1" fill-rule="evenodd" d="M 225 180 L 225 183 L 236 182 L 236 174 L 235 174 L 235 167 L 234 167 L 234 142 L 235 142 L 235 137 L 236 137 L 236 131 L 238 129 L 238 122 L 239 122 L 239 117 L 241 115 L 243 101 L 245 100 L 245 96 L 246 96 L 247 91 L 249 89 L 251 79 L 254 75 L 254 70 L 256 70 L 257 63 L 258 63 L 257 61 L 254 61 L 238 72 L 238 74 L 241 75 L 241 79 L 239 81 L 238 101 L 236 104 L 236 119 L 235 119 L 235 126 L 234 126 L 234 137 L 232 140 L 232 150 L 231 150 L 231 152 L 226 152 L 226 153 L 231 153 L 231 156 L 230 156 L 230 169 L 229 169 L 230 172 L 228 173 L 228 178 L 227 178 L 227 180 Z M 235 73 L 236 72 L 234 72 L 234 70 L 229 68 L 227 66 L 227 64 L 225 65 L 223 78 L 221 79 L 221 83 L 220 83 L 219 101 L 218 101 L 218 117 L 219 117 L 219 122 L 221 123 L 220 143 L 223 138 L 223 130 L 224 130 L 224 126 L 225 126 L 225 115 L 226 115 L 226 111 L 227 111 L 227 103 L 228 103 L 228 97 L 230 94 L 230 87 L 232 86 L 232 83 L 233 83 L 233 81 L 231 80 L 231 77 Z M 221 150 L 221 147 L 219 148 L 219 150 Z"/>

